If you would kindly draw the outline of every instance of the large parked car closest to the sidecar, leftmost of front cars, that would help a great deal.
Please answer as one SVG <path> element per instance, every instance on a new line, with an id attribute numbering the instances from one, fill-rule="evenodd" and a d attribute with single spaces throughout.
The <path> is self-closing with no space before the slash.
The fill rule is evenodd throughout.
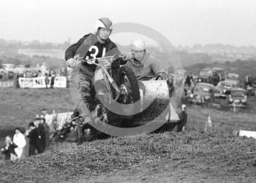
<path id="1" fill-rule="evenodd" d="M 213 98 L 214 85 L 206 82 L 198 82 L 189 94 L 188 102 L 192 104 L 210 104 Z"/>

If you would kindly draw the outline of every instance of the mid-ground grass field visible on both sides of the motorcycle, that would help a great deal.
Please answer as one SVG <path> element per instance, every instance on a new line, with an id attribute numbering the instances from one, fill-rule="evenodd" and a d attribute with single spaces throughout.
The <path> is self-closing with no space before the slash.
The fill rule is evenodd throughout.
<path id="1" fill-rule="evenodd" d="M 69 88 L 55 89 L 15 89 L 1 88 L 0 91 L 0 129 L 26 126 L 39 114 L 42 108 L 48 113 L 69 112 L 74 104 Z M 234 113 L 219 109 L 202 108 L 201 106 L 188 106 L 190 116 L 189 127 L 204 128 L 208 114 L 218 127 L 243 128 L 256 131 L 256 98 L 249 98 L 246 110 Z"/>

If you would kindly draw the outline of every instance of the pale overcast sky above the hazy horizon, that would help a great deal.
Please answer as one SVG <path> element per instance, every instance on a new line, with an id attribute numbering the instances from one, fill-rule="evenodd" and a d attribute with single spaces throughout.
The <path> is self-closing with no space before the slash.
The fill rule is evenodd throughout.
<path id="1" fill-rule="evenodd" d="M 94 31 L 99 17 L 149 26 L 175 46 L 256 46 L 255 0 L 1 0 L 0 38 L 64 42 L 70 37 L 76 42 Z M 130 37 L 112 39 L 127 44 Z"/>

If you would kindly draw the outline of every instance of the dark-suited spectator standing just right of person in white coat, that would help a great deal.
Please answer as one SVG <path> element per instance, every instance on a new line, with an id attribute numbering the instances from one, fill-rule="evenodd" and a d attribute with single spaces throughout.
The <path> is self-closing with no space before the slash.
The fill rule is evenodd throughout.
<path id="1" fill-rule="evenodd" d="M 29 137 L 29 156 L 36 155 L 38 131 L 34 127 L 34 122 L 29 123 L 29 130 L 26 131 L 26 136 Z"/>

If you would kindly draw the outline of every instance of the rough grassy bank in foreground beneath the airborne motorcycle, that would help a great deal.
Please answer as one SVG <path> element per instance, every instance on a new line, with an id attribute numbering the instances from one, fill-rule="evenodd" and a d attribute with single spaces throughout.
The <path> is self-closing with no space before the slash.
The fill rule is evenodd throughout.
<path id="1" fill-rule="evenodd" d="M 179 175 L 189 182 L 202 177 L 215 182 L 253 182 L 256 177 L 252 166 L 255 139 L 228 133 L 162 133 L 93 141 L 79 147 L 54 144 L 51 148 L 53 151 L 43 155 L 1 165 L 1 182 L 86 181 L 121 173 L 124 180 L 140 174 L 137 181 L 145 182 L 152 180 L 149 174 L 165 174 L 171 180 Z"/>

